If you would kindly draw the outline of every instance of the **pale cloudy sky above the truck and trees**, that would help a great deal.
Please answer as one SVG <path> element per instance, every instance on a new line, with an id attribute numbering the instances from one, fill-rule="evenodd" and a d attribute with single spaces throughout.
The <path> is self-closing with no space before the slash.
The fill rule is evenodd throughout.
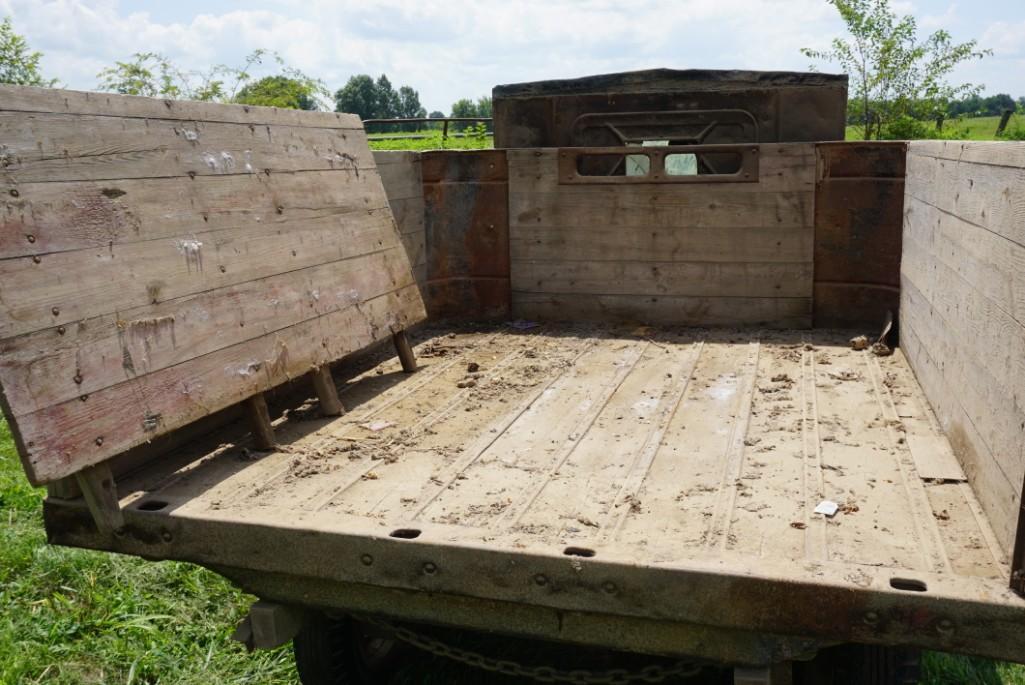
<path id="1" fill-rule="evenodd" d="M 892 4 L 924 33 L 993 50 L 958 68 L 958 83 L 1025 95 L 1025 0 Z M 500 83 L 655 67 L 804 71 L 799 48 L 844 33 L 825 0 L 0 0 L 3 15 L 64 87 L 95 89 L 104 67 L 133 52 L 205 70 L 266 48 L 332 91 L 384 73 L 445 113 Z"/>

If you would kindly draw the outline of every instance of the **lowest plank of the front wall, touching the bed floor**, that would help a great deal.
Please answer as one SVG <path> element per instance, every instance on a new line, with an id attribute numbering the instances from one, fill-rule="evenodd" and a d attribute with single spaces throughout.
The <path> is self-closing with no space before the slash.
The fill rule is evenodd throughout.
<path id="1" fill-rule="evenodd" d="M 811 297 L 689 297 L 512 292 L 516 316 L 554 321 L 627 320 L 682 326 L 810 328 Z"/>

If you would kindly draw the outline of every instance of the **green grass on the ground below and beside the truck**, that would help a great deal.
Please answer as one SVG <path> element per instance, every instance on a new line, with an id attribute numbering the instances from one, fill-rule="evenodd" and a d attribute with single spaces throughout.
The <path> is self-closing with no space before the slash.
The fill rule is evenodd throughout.
<path id="1" fill-rule="evenodd" d="M 298 682 L 289 648 L 247 654 L 230 640 L 252 598 L 191 564 L 48 546 L 42 499 L 0 420 L 0 683 Z M 432 663 L 401 681 L 485 682 Z M 945 654 L 927 654 L 925 674 L 931 685 L 1025 685 L 1025 668 Z"/>

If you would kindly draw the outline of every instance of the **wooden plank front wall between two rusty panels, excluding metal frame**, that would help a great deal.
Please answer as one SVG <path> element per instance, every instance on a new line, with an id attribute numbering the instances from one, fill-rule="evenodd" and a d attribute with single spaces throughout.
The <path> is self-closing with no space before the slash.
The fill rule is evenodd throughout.
<path id="1" fill-rule="evenodd" d="M 764 145 L 756 184 L 561 186 L 509 151 L 518 316 L 811 325 L 815 149 Z"/>

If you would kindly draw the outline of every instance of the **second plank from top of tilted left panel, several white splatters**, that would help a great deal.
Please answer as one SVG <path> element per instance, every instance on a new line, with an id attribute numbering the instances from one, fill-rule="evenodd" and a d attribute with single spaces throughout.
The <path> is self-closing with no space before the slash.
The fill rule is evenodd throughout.
<path id="1" fill-rule="evenodd" d="M 374 168 L 362 131 L 0 112 L 19 184 Z"/>

